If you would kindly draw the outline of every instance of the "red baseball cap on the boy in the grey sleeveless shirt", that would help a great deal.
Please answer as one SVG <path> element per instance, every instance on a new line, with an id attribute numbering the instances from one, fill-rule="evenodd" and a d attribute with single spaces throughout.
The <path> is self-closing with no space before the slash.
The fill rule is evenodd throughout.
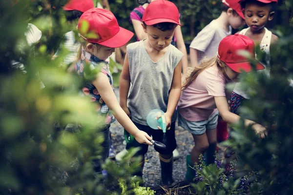
<path id="1" fill-rule="evenodd" d="M 176 5 L 167 0 L 155 0 L 148 4 L 143 20 L 146 25 L 154 25 L 161 22 L 171 22 L 180 25 L 179 11 Z"/>

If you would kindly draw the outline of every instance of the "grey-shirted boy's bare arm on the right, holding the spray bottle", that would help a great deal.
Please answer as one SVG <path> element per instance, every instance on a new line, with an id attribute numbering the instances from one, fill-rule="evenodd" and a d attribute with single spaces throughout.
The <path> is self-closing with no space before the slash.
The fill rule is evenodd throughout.
<path id="1" fill-rule="evenodd" d="M 178 65 L 174 69 L 173 80 L 168 97 L 167 111 L 165 113 L 167 127 L 171 125 L 171 118 L 181 95 L 181 67 L 182 60 L 179 61 Z"/>

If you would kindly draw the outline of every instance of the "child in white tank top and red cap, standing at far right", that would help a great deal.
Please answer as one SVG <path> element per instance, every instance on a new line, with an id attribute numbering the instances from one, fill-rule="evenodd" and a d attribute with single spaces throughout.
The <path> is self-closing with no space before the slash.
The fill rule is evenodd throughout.
<path id="1" fill-rule="evenodd" d="M 245 21 L 249 27 L 240 31 L 239 34 L 251 38 L 254 44 L 259 45 L 261 51 L 265 52 L 266 59 L 262 63 L 266 65 L 264 72 L 268 75 L 270 74 L 270 45 L 278 37 L 265 28 L 265 25 L 273 19 L 272 6 L 276 2 L 277 0 L 245 0 L 241 2 Z M 236 83 L 230 96 L 231 112 L 238 115 L 242 102 L 246 99 L 249 99 L 249 96 L 241 89 L 241 83 Z"/>

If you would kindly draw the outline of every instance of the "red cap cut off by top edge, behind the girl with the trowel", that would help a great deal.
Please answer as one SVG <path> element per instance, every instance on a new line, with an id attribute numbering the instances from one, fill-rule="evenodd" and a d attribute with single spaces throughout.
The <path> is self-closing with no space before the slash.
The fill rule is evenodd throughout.
<path id="1" fill-rule="evenodd" d="M 87 10 L 94 8 L 93 0 L 69 0 L 66 5 L 64 5 L 63 10 L 72 11 L 78 10 L 81 12 L 86 12 Z"/>

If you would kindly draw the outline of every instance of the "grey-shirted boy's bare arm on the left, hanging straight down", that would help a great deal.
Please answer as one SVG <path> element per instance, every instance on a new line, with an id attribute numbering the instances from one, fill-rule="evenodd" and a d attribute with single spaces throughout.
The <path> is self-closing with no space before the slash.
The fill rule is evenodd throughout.
<path id="1" fill-rule="evenodd" d="M 123 69 L 119 79 L 119 93 L 120 93 L 120 106 L 130 117 L 130 112 L 127 108 L 127 96 L 130 87 L 130 73 L 129 73 L 129 60 L 128 53 L 126 52 Z"/>

